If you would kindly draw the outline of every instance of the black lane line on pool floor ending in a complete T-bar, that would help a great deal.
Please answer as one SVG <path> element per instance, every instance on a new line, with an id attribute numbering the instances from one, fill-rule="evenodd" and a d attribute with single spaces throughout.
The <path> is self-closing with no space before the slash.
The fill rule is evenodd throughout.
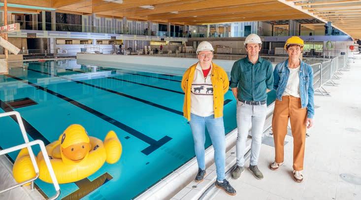
<path id="1" fill-rule="evenodd" d="M 131 127 L 117 121 L 116 119 L 113 119 L 113 118 L 111 118 L 111 117 L 109 117 L 109 116 L 107 116 L 107 115 L 105 115 L 105 114 L 103 114 L 101 112 L 98 112 L 97 110 L 94 110 L 94 109 L 92 109 L 92 108 L 90 108 L 90 107 L 88 107 L 88 106 L 86 106 L 86 105 L 84 105 L 84 104 L 82 104 L 82 103 L 80 103 L 80 102 L 78 102 L 76 100 L 72 100 L 72 99 L 70 99 L 68 97 L 65 97 L 64 95 L 61 95 L 61 94 L 56 93 L 54 91 L 51 91 L 51 90 L 49 90 L 47 88 L 36 85 L 36 84 L 34 84 L 32 82 L 29 82 L 27 80 L 18 78 L 16 76 L 13 76 L 13 75 L 10 75 L 10 74 L 6 74 L 5 76 L 13 78 L 13 79 L 18 80 L 18 81 L 21 81 L 21 82 L 26 83 L 28 85 L 31 85 L 36 89 L 47 92 L 47 93 L 49 93 L 51 95 L 54 95 L 55 97 L 58 97 L 58 98 L 60 98 L 62 100 L 66 100 L 67 102 L 69 102 L 69 103 L 71 103 L 71 104 L 73 104 L 73 105 L 75 105 L 75 106 L 77 106 L 77 107 L 79 107 L 79 108 L 81 108 L 81 109 L 83 109 L 83 110 L 85 110 L 85 111 L 99 117 L 100 119 L 102 119 L 102 120 L 104 120 L 104 121 L 106 121 L 106 122 L 120 128 L 123 131 L 125 131 L 127 133 L 130 133 L 131 135 L 137 137 L 138 139 L 148 143 L 150 146 L 141 151 L 145 155 L 149 155 L 150 153 L 152 153 L 153 151 L 155 151 L 156 149 L 158 149 L 159 147 L 161 147 L 166 142 L 168 142 L 169 140 L 172 139 L 171 137 L 165 135 L 162 139 L 157 141 L 157 140 L 155 140 L 155 139 L 153 139 L 153 138 L 151 138 L 151 137 L 149 137 L 149 136 L 147 136 L 147 135 L 145 135 L 143 133 L 140 133 L 140 132 L 136 131 L 135 129 L 133 129 L 133 128 L 131 128 Z"/>

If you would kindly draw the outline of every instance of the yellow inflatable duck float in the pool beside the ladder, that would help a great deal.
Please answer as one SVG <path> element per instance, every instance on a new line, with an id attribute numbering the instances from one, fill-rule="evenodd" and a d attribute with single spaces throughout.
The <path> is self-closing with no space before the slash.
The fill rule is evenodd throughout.
<path id="1" fill-rule="evenodd" d="M 122 144 L 117 135 L 110 131 L 102 142 L 88 136 L 84 127 L 70 125 L 59 140 L 46 146 L 51 165 L 59 183 L 71 183 L 86 178 L 96 172 L 106 161 L 109 164 L 118 162 L 122 155 Z M 39 167 L 39 178 L 52 183 L 41 152 L 36 157 Z M 13 175 L 17 182 L 35 177 L 28 149 L 22 149 L 15 160 Z"/>

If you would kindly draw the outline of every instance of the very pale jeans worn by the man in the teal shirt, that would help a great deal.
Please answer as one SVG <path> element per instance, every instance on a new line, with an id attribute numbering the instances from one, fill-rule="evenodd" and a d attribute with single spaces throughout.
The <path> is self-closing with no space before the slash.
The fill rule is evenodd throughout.
<path id="1" fill-rule="evenodd" d="M 246 153 L 246 139 L 252 124 L 252 144 L 250 165 L 256 166 L 260 156 L 264 121 L 267 114 L 267 105 L 248 105 L 237 100 L 237 165 L 244 166 Z"/>

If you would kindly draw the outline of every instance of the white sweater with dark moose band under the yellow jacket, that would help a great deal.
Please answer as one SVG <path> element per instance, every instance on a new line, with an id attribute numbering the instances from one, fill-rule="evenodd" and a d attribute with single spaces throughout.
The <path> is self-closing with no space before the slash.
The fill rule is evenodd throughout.
<path id="1" fill-rule="evenodd" d="M 201 117 L 214 114 L 211 72 L 212 65 L 207 77 L 204 78 L 202 68 L 198 62 L 191 88 L 191 113 Z"/>

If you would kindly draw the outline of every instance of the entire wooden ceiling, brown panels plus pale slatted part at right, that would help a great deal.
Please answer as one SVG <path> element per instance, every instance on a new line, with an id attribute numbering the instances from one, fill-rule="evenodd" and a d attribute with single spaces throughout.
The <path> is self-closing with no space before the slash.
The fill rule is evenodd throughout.
<path id="1" fill-rule="evenodd" d="M 361 38 L 361 0 L 8 0 L 8 3 L 180 25 L 317 18 Z"/>

